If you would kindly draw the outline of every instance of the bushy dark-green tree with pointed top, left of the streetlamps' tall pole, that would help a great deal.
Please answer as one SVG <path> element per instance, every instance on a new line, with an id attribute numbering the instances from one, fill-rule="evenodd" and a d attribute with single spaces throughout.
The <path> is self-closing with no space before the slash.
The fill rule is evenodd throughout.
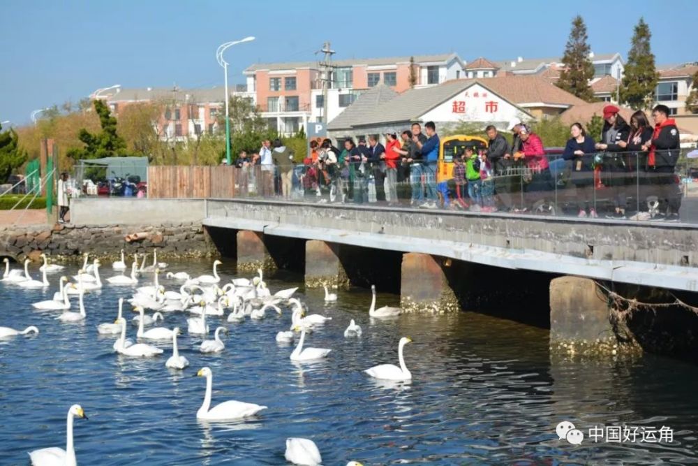
<path id="1" fill-rule="evenodd" d="M 82 141 L 85 147 L 71 149 L 68 156 L 73 160 L 128 156 L 126 141 L 117 134 L 117 119 L 112 117 L 107 104 L 96 99 L 94 110 L 99 116 L 102 131 L 95 134 L 90 133 L 87 129 L 80 129 L 77 138 Z"/>

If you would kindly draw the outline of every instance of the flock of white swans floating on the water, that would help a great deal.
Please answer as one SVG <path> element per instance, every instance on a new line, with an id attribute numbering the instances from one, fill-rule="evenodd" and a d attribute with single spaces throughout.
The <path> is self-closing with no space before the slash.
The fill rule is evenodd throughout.
<path id="1" fill-rule="evenodd" d="M 172 312 L 188 312 L 191 316 L 186 319 L 187 331 L 197 337 L 208 338 L 211 327 L 207 318 L 216 316 L 225 319 L 228 323 L 243 323 L 246 319 L 265 319 L 267 312 L 282 315 L 283 311 L 279 305 L 288 306 L 291 309 L 291 326 L 289 330 L 280 330 L 276 333 L 277 342 L 292 343 L 299 334 L 295 349 L 290 354 L 291 361 L 318 361 L 327 358 L 332 349 L 306 347 L 306 336 L 313 330 L 321 328 L 331 317 L 320 314 L 306 315 L 306 306 L 293 294 L 297 288 L 284 289 L 272 293 L 267 289 L 263 280 L 262 270 L 258 270 L 258 276 L 251 279 L 236 278 L 221 286 L 222 279 L 218 275 L 218 265 L 221 261 L 214 261 L 211 275 L 200 275 L 191 277 L 187 272 L 168 272 L 166 277 L 170 280 L 181 282 L 177 291 L 165 290 L 160 284 L 159 275 L 161 270 L 168 267 L 167 263 L 158 262 L 157 253 L 153 254 L 153 263 L 146 265 L 146 255 L 142 262 L 138 263 L 138 256 L 135 256 L 131 265 L 130 274 L 124 275 L 128 270 L 124 251 L 121 250 L 121 260 L 112 263 L 112 270 L 121 272 L 118 275 L 107 278 L 105 281 L 111 286 L 137 286 L 139 277 L 149 272 L 153 275 L 153 283 L 135 288 L 135 293 L 128 300 L 119 298 L 117 318 L 113 322 L 100 323 L 97 332 L 101 335 L 118 335 L 114 341 L 113 349 L 123 356 L 149 358 L 163 354 L 163 349 L 151 344 L 151 342 L 172 342 L 172 356 L 165 362 L 165 367 L 173 370 L 184 370 L 189 365 L 186 357 L 179 354 L 177 347 L 177 336 L 182 335 L 179 327 L 168 328 L 165 326 L 154 326 L 164 323 L 163 315 Z M 43 265 L 40 267 L 41 280 L 32 279 L 29 275 L 29 259 L 24 261 L 24 268 L 10 270 L 8 259 L 4 260 L 4 272 L 0 282 L 10 286 L 19 286 L 23 289 L 45 289 L 50 286 L 47 274 L 64 272 L 64 265 L 51 264 L 45 254 L 41 255 Z M 88 256 L 84 254 L 82 268 L 73 276 L 73 282 L 68 277 L 62 276 L 59 279 L 60 290 L 54 294 L 52 300 L 43 300 L 34 303 L 32 306 L 38 311 L 56 311 L 55 319 L 61 323 L 80 323 L 87 319 L 87 310 L 84 305 L 84 294 L 101 289 L 104 284 L 100 277 L 101 263 L 94 260 L 88 263 Z M 376 287 L 371 286 L 372 298 L 369 308 L 369 315 L 375 318 L 389 318 L 401 313 L 399 307 L 380 307 L 376 309 Z M 71 310 L 73 304 L 70 296 L 77 296 L 77 311 Z M 336 293 L 329 293 L 325 286 L 325 301 L 332 303 L 337 300 Z M 133 319 L 133 323 L 138 324 L 136 342 L 126 338 L 126 318 L 124 317 L 124 301 L 133 306 L 133 310 L 138 315 Z M 154 312 L 147 314 L 146 310 Z M 228 312 L 227 318 L 225 312 Z M 202 354 L 220 353 L 225 351 L 225 343 L 221 340 L 221 333 L 227 333 L 225 326 L 216 326 L 214 338 L 203 340 L 199 350 Z M 24 330 L 15 330 L 10 327 L 0 326 L 0 338 L 15 337 L 17 335 L 38 334 L 36 326 L 29 326 Z M 344 337 L 360 337 L 362 329 L 352 319 L 344 331 Z M 366 369 L 364 372 L 376 379 L 390 381 L 403 381 L 412 378 L 403 357 L 403 348 L 411 342 L 409 337 L 402 337 L 398 345 L 399 365 L 381 364 Z M 235 421 L 244 420 L 250 416 L 255 416 L 266 406 L 257 405 L 251 402 L 228 400 L 211 407 L 211 390 L 213 386 L 213 372 L 209 367 L 202 367 L 198 370 L 198 377 L 205 377 L 206 391 L 201 407 L 196 412 L 196 418 L 208 421 Z M 38 449 L 31 451 L 29 456 L 32 465 L 76 465 L 75 448 L 73 445 L 73 418 L 85 418 L 84 410 L 80 405 L 73 405 L 68 410 L 66 421 L 66 449 L 58 447 Z M 297 465 L 320 465 L 322 458 L 315 443 L 310 439 L 289 438 L 286 440 L 285 458 Z M 361 466 L 361 463 L 350 461 L 347 466 Z"/>

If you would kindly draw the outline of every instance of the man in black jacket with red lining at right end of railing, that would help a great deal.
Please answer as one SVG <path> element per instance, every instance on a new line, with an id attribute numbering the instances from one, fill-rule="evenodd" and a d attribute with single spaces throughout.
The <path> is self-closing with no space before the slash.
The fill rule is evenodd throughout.
<path id="1" fill-rule="evenodd" d="M 669 118 L 669 107 L 657 105 L 652 109 L 655 130 L 650 143 L 642 146 L 649 151 L 647 156 L 647 171 L 653 190 L 660 203 L 660 213 L 666 212 L 667 220 L 678 220 L 678 210 L 681 208 L 681 187 L 676 183 L 674 167 L 678 160 L 681 136 L 676 122 Z"/>

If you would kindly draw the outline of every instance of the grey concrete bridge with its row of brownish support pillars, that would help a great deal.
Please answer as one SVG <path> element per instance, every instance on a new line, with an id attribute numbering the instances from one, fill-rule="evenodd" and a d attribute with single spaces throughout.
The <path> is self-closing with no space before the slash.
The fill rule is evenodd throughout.
<path id="1" fill-rule="evenodd" d="M 102 221 L 90 219 L 95 212 Z M 346 286 L 359 255 L 391 252 L 401 255 L 399 291 L 408 310 L 460 309 L 457 288 L 473 278 L 481 286 L 477 275 L 521 293 L 540 291 L 543 281 L 551 339 L 559 341 L 615 341 L 599 282 L 698 291 L 698 228 L 685 224 L 255 199 L 84 200 L 73 215 L 86 224 L 184 215 L 201 221 L 219 249 L 233 252 L 239 270 L 274 268 L 283 248 L 271 243 L 288 241 L 302 256 L 306 286 Z M 454 276 L 450 270 L 461 264 L 482 268 Z"/>

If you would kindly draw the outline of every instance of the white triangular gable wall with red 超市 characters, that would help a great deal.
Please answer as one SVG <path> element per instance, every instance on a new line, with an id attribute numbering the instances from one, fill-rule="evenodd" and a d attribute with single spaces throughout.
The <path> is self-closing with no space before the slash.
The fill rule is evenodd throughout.
<path id="1" fill-rule="evenodd" d="M 530 118 L 500 96 L 475 84 L 419 119 L 423 122 L 487 122 L 505 126 L 514 117 Z"/>

